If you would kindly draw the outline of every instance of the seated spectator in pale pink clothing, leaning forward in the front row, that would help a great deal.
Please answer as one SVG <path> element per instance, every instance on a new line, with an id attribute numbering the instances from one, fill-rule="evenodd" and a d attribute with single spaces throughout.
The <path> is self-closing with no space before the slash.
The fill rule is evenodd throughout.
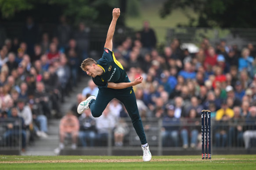
<path id="1" fill-rule="evenodd" d="M 54 149 L 54 152 L 59 154 L 61 149 L 64 149 L 64 140 L 66 137 L 72 138 L 72 149 L 76 149 L 76 141 L 79 133 L 79 121 L 72 111 L 68 111 L 67 114 L 61 118 L 59 125 L 60 143 L 59 147 Z"/>

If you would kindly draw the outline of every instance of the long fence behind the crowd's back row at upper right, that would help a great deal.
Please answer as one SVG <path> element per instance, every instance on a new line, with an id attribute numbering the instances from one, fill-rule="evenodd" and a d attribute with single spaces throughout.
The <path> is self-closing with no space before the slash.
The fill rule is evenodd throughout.
<path id="1" fill-rule="evenodd" d="M 167 28 L 166 43 L 170 45 L 173 38 L 178 38 L 181 43 L 194 43 L 200 45 L 204 37 L 209 38 L 212 45 L 225 39 L 227 45 L 238 45 L 241 49 L 248 43 L 256 45 L 255 28 Z"/>

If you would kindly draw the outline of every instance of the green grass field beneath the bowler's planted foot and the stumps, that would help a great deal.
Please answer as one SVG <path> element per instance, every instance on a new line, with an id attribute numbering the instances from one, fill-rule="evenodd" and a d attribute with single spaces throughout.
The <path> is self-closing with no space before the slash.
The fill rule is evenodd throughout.
<path id="1" fill-rule="evenodd" d="M 5 156 L 0 170 L 256 170 L 256 155 L 198 156 Z"/>

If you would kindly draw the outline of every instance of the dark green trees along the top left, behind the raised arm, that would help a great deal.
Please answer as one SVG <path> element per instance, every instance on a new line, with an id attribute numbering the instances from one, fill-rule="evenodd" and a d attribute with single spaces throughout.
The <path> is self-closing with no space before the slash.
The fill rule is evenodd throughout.
<path id="1" fill-rule="evenodd" d="M 112 9 L 119 7 L 120 0 L 0 0 L 0 14 L 5 20 L 12 20 L 24 11 L 36 14 L 42 7 L 54 6 L 57 12 L 72 18 L 71 24 L 87 21 L 88 24 L 109 24 Z M 47 11 L 47 9 L 45 9 Z M 48 11 L 47 11 L 48 12 Z M 50 11 L 49 11 L 50 12 Z M 53 14 L 53 15 L 54 15 Z M 53 16 L 56 17 L 56 16 Z M 57 16 L 58 17 L 58 16 Z M 124 17 L 119 18 L 119 24 L 124 23 Z"/>

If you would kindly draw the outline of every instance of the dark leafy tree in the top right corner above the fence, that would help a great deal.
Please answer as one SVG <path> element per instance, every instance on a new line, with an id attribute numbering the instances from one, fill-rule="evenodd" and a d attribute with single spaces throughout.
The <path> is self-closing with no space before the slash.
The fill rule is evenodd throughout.
<path id="1" fill-rule="evenodd" d="M 186 13 L 188 7 L 198 14 L 198 27 L 256 27 L 256 0 L 166 0 L 160 16 L 166 17 L 173 9 L 181 8 L 190 20 L 187 26 L 192 26 L 196 19 Z"/>

